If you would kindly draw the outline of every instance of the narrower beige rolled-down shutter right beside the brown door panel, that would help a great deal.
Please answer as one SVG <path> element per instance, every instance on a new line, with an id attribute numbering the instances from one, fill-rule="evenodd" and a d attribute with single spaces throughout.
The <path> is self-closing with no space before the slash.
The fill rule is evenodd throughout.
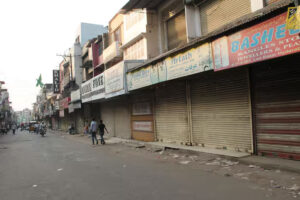
<path id="1" fill-rule="evenodd" d="M 185 82 L 170 82 L 158 88 L 155 104 L 157 139 L 181 144 L 188 142 Z"/>

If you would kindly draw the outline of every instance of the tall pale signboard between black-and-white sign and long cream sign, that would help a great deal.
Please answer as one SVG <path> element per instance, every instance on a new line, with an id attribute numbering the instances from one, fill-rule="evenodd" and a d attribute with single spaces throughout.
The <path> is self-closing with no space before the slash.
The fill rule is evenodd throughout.
<path id="1" fill-rule="evenodd" d="M 105 71 L 105 97 L 125 94 L 124 62 L 119 62 Z"/>

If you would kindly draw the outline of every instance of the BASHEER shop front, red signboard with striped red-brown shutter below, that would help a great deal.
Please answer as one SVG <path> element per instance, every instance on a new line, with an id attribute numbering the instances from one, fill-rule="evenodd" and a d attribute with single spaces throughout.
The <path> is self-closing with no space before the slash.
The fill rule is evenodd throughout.
<path id="1" fill-rule="evenodd" d="M 254 152 L 300 160 L 300 30 L 286 15 L 214 41 L 214 64 L 250 71 Z"/>

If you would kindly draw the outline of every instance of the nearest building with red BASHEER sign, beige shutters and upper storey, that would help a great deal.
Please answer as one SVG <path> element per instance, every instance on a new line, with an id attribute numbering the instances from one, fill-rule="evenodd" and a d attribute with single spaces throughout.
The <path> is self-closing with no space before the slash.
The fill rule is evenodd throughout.
<path id="1" fill-rule="evenodd" d="M 300 30 L 285 28 L 292 5 L 129 1 L 125 12 L 157 14 L 160 52 L 127 74 L 129 92 L 153 102 L 132 104 L 133 137 L 148 140 L 153 133 L 165 143 L 300 159 L 299 88 L 293 87 Z M 139 115 L 149 118 L 140 122 Z"/>

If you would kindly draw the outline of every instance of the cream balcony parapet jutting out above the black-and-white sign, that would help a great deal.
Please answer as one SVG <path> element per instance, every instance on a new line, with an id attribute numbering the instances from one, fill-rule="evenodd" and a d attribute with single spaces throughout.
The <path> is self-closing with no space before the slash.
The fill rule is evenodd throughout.
<path id="1" fill-rule="evenodd" d="M 115 59 L 122 58 L 122 50 L 120 49 L 121 43 L 118 41 L 113 42 L 103 51 L 103 61 L 104 63 L 108 63 Z"/>

